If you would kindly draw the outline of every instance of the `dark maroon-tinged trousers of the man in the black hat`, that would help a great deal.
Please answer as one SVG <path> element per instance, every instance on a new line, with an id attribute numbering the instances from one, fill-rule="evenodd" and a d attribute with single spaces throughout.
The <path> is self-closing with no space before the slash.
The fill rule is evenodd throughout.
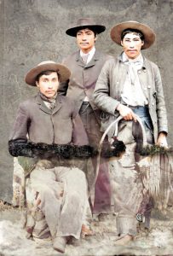
<path id="1" fill-rule="evenodd" d="M 89 102 L 84 102 L 79 110 L 79 115 L 83 121 L 85 131 L 89 138 L 89 145 L 93 147 L 98 147 L 102 132 L 100 131 L 100 125 L 95 118 L 95 112 L 91 108 Z M 89 160 L 86 160 L 89 161 Z M 92 158 L 92 165 L 88 165 L 94 172 L 89 173 L 89 168 L 84 172 L 87 172 L 86 175 L 88 176 L 89 180 L 90 177 L 95 178 L 95 170 L 96 170 L 96 156 Z M 87 166 L 87 165 L 86 165 Z M 100 212 L 109 212 L 111 207 L 111 188 L 110 188 L 110 179 L 109 179 L 109 172 L 108 172 L 108 163 L 107 160 L 101 158 L 101 164 L 99 168 L 98 177 L 95 183 L 95 200 L 93 203 L 93 213 L 100 213 Z"/>

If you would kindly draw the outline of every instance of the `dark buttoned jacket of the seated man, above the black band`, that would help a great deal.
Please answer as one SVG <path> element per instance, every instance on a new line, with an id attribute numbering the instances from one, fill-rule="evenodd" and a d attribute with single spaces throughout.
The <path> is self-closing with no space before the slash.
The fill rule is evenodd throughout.
<path id="1" fill-rule="evenodd" d="M 56 97 L 53 111 L 46 107 L 39 94 L 20 103 L 9 140 L 26 141 L 27 136 L 33 143 L 88 143 L 78 110 L 66 96 Z"/>

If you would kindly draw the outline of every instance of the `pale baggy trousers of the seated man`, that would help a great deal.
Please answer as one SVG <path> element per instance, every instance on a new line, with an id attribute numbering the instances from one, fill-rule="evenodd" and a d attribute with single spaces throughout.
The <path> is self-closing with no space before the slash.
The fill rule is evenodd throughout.
<path id="1" fill-rule="evenodd" d="M 84 172 L 75 167 L 37 167 L 30 175 L 37 192 L 37 207 L 43 212 L 52 237 L 80 237 L 88 202 Z"/>

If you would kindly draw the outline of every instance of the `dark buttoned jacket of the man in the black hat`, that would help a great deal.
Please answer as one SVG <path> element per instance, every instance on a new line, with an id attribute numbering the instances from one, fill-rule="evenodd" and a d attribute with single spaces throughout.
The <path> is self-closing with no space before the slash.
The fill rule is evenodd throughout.
<path id="1" fill-rule="evenodd" d="M 80 109 L 84 97 L 88 96 L 90 105 L 95 110 L 96 106 L 92 100 L 95 84 L 101 73 L 105 61 L 112 58 L 110 55 L 103 54 L 95 50 L 95 55 L 88 64 L 84 64 L 80 56 L 80 51 L 66 57 L 62 63 L 71 71 L 71 77 L 66 83 L 61 83 L 59 94 L 69 96 L 76 102 L 78 110 Z"/>

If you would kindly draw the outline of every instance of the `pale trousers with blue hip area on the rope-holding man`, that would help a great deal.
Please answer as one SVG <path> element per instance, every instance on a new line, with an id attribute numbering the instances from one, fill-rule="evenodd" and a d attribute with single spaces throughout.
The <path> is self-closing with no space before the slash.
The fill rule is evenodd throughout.
<path id="1" fill-rule="evenodd" d="M 147 143 L 153 143 L 153 125 L 144 107 L 134 108 L 133 111 L 141 118 L 147 135 Z M 122 120 L 118 124 L 118 140 L 126 145 L 126 151 L 119 160 L 110 160 L 112 198 L 117 212 L 118 235 L 129 234 L 136 236 L 136 213 L 142 196 L 140 170 L 136 162 L 140 160 L 139 150 L 142 146 L 142 132 L 139 123 Z"/>

